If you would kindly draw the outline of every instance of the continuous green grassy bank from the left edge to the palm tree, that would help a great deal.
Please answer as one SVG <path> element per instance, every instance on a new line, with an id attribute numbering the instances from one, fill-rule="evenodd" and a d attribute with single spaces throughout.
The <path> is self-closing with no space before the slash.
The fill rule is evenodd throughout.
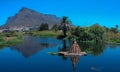
<path id="1" fill-rule="evenodd" d="M 24 35 L 30 35 L 34 37 L 54 37 L 62 35 L 62 31 L 29 31 L 29 32 L 8 32 L 0 33 L 0 48 L 5 46 L 13 46 L 19 44 L 23 41 L 22 37 Z"/>

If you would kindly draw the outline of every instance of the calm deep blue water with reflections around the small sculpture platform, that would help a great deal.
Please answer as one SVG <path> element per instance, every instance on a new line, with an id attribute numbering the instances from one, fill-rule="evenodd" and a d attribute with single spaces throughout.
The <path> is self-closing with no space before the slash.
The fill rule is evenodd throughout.
<path id="1" fill-rule="evenodd" d="M 0 49 L 0 72 L 120 72 L 119 45 L 80 43 L 87 56 L 51 55 L 69 50 L 71 42 L 25 37 L 22 44 Z"/>

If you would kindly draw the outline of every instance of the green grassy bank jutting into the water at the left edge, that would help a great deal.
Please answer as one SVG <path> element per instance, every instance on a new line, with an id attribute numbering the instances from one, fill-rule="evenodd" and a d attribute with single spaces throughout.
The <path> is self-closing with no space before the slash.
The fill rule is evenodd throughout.
<path id="1" fill-rule="evenodd" d="M 13 46 L 23 41 L 22 32 L 14 32 L 14 33 L 1 33 L 0 34 L 0 48 L 6 46 Z"/>

